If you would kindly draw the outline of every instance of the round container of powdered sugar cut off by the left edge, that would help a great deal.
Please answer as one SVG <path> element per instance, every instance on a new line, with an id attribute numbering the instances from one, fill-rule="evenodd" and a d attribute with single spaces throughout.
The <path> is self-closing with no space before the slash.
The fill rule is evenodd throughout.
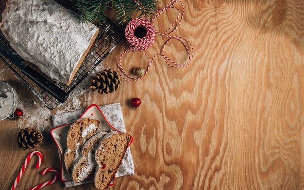
<path id="1" fill-rule="evenodd" d="M 8 83 L 0 81 L 0 121 L 14 118 L 17 106 L 17 93 Z"/>

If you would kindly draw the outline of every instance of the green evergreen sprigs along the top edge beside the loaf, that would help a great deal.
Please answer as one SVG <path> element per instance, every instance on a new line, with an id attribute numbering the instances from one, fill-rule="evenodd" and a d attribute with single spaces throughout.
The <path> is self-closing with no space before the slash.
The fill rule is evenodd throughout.
<path id="1" fill-rule="evenodd" d="M 105 19 L 105 10 L 115 10 L 120 24 L 128 22 L 134 15 L 152 16 L 156 11 L 156 0 L 73 0 L 83 22 L 100 23 Z"/>

